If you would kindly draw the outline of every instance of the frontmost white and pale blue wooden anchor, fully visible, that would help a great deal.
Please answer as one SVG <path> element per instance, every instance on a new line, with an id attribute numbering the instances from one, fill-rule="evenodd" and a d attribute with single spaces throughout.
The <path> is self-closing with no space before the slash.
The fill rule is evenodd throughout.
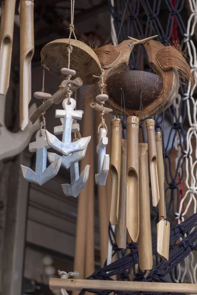
<path id="1" fill-rule="evenodd" d="M 53 134 L 46 131 L 46 137 L 49 145 L 61 152 L 63 155 L 68 155 L 72 152 L 83 150 L 88 146 L 91 136 L 80 138 L 75 142 L 71 142 L 71 128 L 72 120 L 80 120 L 83 111 L 74 111 L 76 101 L 73 98 L 66 98 L 63 101 L 64 110 L 56 110 L 56 118 L 65 118 L 63 126 L 63 139 L 62 142 Z"/>

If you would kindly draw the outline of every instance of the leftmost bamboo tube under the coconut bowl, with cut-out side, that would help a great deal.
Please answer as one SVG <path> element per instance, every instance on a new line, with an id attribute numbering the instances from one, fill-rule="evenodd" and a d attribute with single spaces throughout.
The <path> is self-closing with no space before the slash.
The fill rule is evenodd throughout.
<path id="1" fill-rule="evenodd" d="M 112 225 L 118 223 L 119 197 L 120 197 L 120 170 L 121 170 L 121 119 L 111 120 L 111 154 L 110 154 L 110 175 L 111 175 L 111 210 L 110 222 Z"/>

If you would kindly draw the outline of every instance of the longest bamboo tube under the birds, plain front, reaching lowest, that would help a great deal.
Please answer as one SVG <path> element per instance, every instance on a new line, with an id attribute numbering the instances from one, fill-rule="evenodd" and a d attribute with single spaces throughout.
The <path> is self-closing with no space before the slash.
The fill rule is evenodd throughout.
<path id="1" fill-rule="evenodd" d="M 152 269 L 151 213 L 148 177 L 148 144 L 139 144 L 139 268 Z"/>

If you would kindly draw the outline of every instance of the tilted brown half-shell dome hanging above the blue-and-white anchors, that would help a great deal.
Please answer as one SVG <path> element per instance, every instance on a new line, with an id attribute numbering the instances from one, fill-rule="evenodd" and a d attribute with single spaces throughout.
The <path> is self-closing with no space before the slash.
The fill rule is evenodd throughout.
<path id="1" fill-rule="evenodd" d="M 43 66 L 52 74 L 65 79 L 65 75 L 61 73 L 61 69 L 68 65 L 69 39 L 58 39 L 46 44 L 41 52 L 41 60 Z M 92 85 L 99 82 L 101 65 L 97 55 L 85 43 L 71 39 L 72 52 L 70 54 L 70 69 L 76 71 L 76 76 L 83 81 L 84 85 Z"/>

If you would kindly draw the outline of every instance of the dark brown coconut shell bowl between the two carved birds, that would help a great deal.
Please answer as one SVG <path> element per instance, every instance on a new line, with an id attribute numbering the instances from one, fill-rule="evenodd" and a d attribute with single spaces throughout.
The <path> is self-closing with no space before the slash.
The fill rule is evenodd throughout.
<path id="1" fill-rule="evenodd" d="M 145 107 L 156 100 L 163 89 L 163 79 L 160 76 L 144 71 L 115 73 L 106 79 L 106 84 L 110 98 L 120 106 L 122 90 L 124 91 L 125 107 L 128 109 L 140 108 L 140 91 L 142 91 L 142 107 Z M 124 108 L 123 97 L 122 108 Z"/>

